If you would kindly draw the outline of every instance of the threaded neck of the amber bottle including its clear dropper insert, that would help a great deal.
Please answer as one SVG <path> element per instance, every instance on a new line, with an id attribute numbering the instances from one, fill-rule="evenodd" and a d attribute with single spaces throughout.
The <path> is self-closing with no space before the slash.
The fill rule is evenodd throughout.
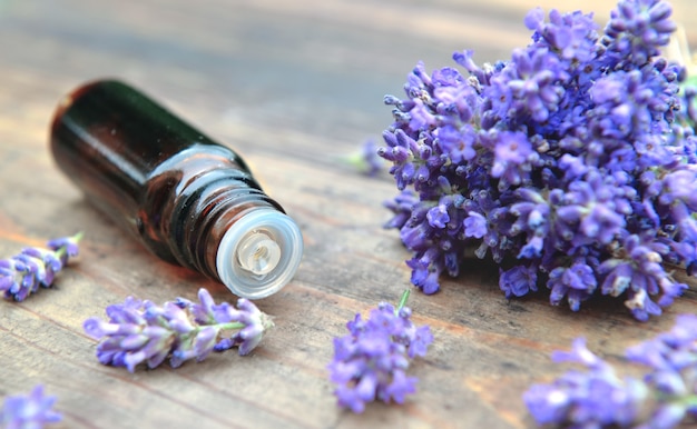
<path id="1" fill-rule="evenodd" d="M 286 285 L 303 251 L 300 229 L 244 174 L 210 171 L 175 199 L 166 237 L 181 266 L 234 293 L 264 298 Z"/>

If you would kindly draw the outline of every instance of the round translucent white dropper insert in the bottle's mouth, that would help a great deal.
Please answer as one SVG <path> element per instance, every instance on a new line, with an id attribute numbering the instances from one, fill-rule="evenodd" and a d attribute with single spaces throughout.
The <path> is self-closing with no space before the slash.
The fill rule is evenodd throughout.
<path id="1" fill-rule="evenodd" d="M 293 219 L 273 208 L 257 208 L 225 232 L 216 266 L 233 293 L 259 299 L 286 286 L 302 257 L 303 236 Z"/>

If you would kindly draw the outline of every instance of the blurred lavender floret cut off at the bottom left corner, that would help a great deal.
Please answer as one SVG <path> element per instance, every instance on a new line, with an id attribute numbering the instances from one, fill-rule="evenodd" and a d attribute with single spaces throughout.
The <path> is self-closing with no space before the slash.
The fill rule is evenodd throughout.
<path id="1" fill-rule="evenodd" d="M 51 408 L 56 397 L 45 396 L 43 386 L 38 385 L 29 396 L 7 397 L 0 410 L 0 427 L 4 429 L 39 429 L 43 425 L 62 420 Z"/>

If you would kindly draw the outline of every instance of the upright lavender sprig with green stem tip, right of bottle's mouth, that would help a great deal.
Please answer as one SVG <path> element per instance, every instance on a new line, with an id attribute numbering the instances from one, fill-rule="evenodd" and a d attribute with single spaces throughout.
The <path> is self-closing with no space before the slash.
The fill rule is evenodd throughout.
<path id="1" fill-rule="evenodd" d="M 410 359 L 426 355 L 433 336 L 428 326 L 416 328 L 410 320 L 408 298 L 409 291 L 396 309 L 381 302 L 367 320 L 357 313 L 346 323 L 350 333 L 334 339 L 334 359 L 327 368 L 341 407 L 363 412 L 366 402 L 403 403 L 415 391 L 416 378 L 405 371 Z"/>

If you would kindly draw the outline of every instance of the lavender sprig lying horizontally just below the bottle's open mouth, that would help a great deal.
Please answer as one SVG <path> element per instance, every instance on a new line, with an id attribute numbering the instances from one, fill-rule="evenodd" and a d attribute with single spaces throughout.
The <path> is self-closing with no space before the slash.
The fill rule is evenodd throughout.
<path id="1" fill-rule="evenodd" d="M 244 298 L 237 309 L 227 302 L 216 305 L 206 289 L 198 291 L 198 299 L 178 298 L 160 307 L 128 297 L 124 303 L 107 307 L 109 321 L 90 318 L 84 329 L 100 340 L 99 362 L 134 372 L 140 362 L 155 368 L 167 357 L 176 368 L 189 359 L 202 361 L 213 350 L 238 347 L 239 355 L 247 355 L 274 326 L 269 316 Z"/>

